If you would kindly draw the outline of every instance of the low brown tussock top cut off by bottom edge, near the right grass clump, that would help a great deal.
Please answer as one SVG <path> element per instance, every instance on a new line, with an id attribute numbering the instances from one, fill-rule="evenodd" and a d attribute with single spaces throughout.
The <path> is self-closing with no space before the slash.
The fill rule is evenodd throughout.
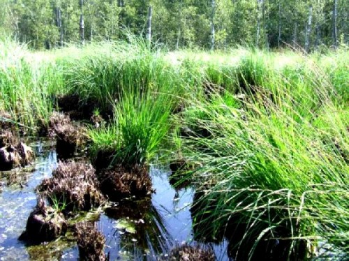
<path id="1" fill-rule="evenodd" d="M 170 261 L 214 261 L 216 257 L 211 248 L 202 248 L 201 246 L 189 246 L 184 244 L 178 246 L 168 255 Z"/>

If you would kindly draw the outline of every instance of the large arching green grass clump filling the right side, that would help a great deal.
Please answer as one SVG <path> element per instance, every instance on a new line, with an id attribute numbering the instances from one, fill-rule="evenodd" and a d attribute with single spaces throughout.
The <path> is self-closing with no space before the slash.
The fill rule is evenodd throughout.
<path id="1" fill-rule="evenodd" d="M 209 217 L 196 222 L 210 232 L 243 228 L 233 247 L 240 260 L 272 239 L 288 241 L 286 259 L 306 258 L 304 241 L 310 254 L 324 242 L 348 253 L 348 91 L 312 57 L 280 66 L 273 54 L 250 55 L 236 68 L 237 94 L 193 102 L 180 119 L 211 133 L 179 142 L 201 166 L 197 204 Z"/>

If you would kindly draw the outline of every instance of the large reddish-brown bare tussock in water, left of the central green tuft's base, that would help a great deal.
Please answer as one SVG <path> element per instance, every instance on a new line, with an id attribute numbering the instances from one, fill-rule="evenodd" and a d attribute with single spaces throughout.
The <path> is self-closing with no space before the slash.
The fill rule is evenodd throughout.
<path id="1" fill-rule="evenodd" d="M 88 211 L 105 201 L 98 187 L 94 167 L 90 164 L 59 162 L 52 178 L 44 179 L 38 190 L 47 195 L 52 204 L 66 211 Z"/>

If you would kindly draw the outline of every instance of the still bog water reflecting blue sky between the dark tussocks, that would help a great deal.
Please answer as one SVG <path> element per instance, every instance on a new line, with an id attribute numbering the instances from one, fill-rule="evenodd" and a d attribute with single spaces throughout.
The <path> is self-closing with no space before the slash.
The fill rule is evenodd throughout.
<path id="1" fill-rule="evenodd" d="M 78 260 L 70 231 L 66 237 L 40 246 L 25 246 L 17 238 L 36 206 L 35 188 L 57 166 L 52 142 L 31 144 L 36 161 L 31 167 L 0 172 L 0 260 Z M 85 215 L 105 236 L 110 260 L 158 260 L 183 242 L 193 242 L 190 205 L 193 189 L 175 191 L 168 170 L 151 167 L 156 190 L 151 200 L 114 204 Z M 217 260 L 228 260 L 227 244 L 212 244 Z"/>

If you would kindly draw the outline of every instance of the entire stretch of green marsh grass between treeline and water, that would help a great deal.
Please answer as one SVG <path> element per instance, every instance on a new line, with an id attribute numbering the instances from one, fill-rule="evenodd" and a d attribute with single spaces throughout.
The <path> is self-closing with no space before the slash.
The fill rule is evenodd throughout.
<path id="1" fill-rule="evenodd" d="M 126 165 L 163 151 L 185 158 L 204 192 L 195 203 L 207 206 L 194 223 L 239 230 L 236 242 L 225 233 L 231 255 L 276 240 L 283 258 L 325 243 L 348 253 L 348 50 L 165 52 L 138 40 L 0 50 L 0 112 L 35 133 L 59 96 L 74 95 L 77 109 L 110 116 L 89 132 L 94 154 Z"/>

